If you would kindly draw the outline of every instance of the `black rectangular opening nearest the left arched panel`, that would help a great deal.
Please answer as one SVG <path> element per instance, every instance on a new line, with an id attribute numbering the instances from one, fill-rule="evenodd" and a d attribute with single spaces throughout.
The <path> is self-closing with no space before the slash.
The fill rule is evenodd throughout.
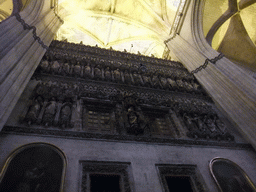
<path id="1" fill-rule="evenodd" d="M 120 175 L 90 174 L 90 192 L 121 192 Z"/>

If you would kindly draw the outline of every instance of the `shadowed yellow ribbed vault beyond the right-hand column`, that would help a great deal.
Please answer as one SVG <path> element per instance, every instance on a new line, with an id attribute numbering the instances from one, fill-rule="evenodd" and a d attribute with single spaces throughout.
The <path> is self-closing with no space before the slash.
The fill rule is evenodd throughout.
<path id="1" fill-rule="evenodd" d="M 203 26 L 214 49 L 256 72 L 256 0 L 206 0 Z"/>

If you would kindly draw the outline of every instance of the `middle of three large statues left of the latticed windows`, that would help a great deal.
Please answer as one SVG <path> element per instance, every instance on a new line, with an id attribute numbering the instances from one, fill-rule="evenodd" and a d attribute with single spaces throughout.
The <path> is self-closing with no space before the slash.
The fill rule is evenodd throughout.
<path id="1" fill-rule="evenodd" d="M 53 97 L 49 102 L 49 104 L 46 106 L 44 111 L 43 123 L 45 126 L 52 125 L 56 111 L 57 111 L 57 102 L 56 102 L 56 99 Z"/>

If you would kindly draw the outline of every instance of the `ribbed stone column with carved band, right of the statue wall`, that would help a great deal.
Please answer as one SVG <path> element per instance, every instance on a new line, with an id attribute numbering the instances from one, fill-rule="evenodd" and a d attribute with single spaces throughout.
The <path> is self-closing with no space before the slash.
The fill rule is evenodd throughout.
<path id="1" fill-rule="evenodd" d="M 167 46 L 191 72 L 206 59 L 219 55 L 206 42 L 202 30 L 201 1 L 193 1 L 179 34 Z M 191 19 L 192 18 L 192 19 Z M 223 57 L 194 73 L 196 79 L 212 97 L 217 107 L 238 127 L 238 130 L 256 148 L 256 80 L 234 63 Z"/>

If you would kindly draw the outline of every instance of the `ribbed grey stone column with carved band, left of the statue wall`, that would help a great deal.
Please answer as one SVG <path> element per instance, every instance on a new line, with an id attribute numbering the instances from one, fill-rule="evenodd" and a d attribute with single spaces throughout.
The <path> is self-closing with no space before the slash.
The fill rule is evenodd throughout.
<path id="1" fill-rule="evenodd" d="M 0 24 L 0 130 L 61 23 L 50 0 L 37 0 Z"/>

